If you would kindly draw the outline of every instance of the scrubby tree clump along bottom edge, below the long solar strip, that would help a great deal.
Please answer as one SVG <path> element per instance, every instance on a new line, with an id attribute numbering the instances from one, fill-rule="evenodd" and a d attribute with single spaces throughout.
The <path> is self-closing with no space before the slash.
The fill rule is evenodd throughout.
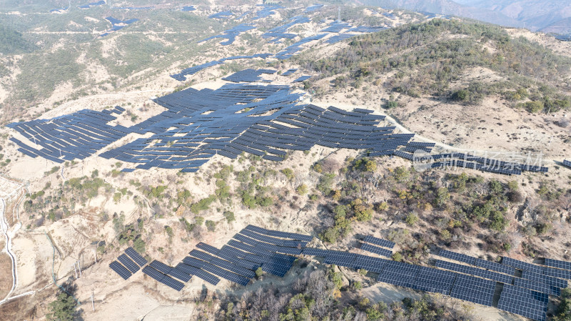
<path id="1" fill-rule="evenodd" d="M 290 287 L 259 287 L 244 292 L 241 297 L 226 297 L 221 309 L 216 312 L 217 320 L 426 320 L 452 321 L 470 320 L 471 316 L 460 310 L 423 297 L 420 300 L 405 298 L 401 302 L 386 305 L 373 303 L 368 298 L 345 296 L 343 292 L 355 291 L 360 282 L 343 286 L 343 277 L 330 270 L 317 270 L 305 274 Z"/>

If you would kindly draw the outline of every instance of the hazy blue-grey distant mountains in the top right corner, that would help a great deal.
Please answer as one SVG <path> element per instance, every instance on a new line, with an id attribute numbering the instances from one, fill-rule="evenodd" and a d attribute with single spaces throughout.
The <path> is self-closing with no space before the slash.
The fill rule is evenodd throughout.
<path id="1" fill-rule="evenodd" d="M 532 31 L 548 30 L 565 34 L 571 31 L 569 0 L 360 0 L 359 3 L 449 14 Z M 547 29 L 549 27 L 549 29 Z M 557 30 L 556 30 L 557 29 Z M 544 30 L 542 30 L 544 31 Z"/>

